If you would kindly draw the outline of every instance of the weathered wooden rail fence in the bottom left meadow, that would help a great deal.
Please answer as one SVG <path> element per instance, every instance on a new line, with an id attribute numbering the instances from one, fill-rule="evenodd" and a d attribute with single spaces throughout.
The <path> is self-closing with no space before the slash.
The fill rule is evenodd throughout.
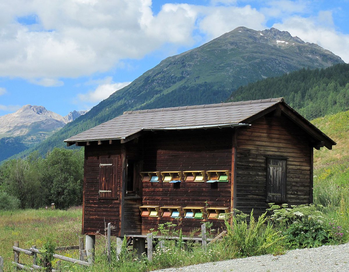
<path id="1" fill-rule="evenodd" d="M 86 262 L 87 254 L 86 254 L 86 250 L 84 249 L 84 240 L 83 239 L 84 239 L 83 237 L 79 237 L 79 245 L 77 245 L 77 246 L 59 246 L 59 247 L 55 248 L 56 251 L 79 249 L 79 255 L 80 255 L 80 260 L 78 260 L 78 259 L 63 256 L 63 255 L 53 254 L 53 258 L 59 259 L 59 261 L 57 262 L 57 266 L 60 265 L 60 260 L 64 260 L 66 262 L 84 265 L 84 266 L 90 265 L 88 262 Z M 37 255 L 43 254 L 43 253 L 40 252 L 40 250 L 37 249 L 35 245 L 33 245 L 30 249 L 22 249 L 19 247 L 19 242 L 15 241 L 14 246 L 12 248 L 14 251 L 14 261 L 12 263 L 16 266 L 16 270 L 34 271 L 36 269 L 49 269 L 49 267 L 47 267 L 46 265 L 44 265 L 44 266 L 38 265 Z M 32 265 L 25 265 L 25 264 L 20 263 L 20 253 L 24 253 L 26 255 L 33 256 L 33 264 Z M 56 269 L 57 268 L 58 267 L 56 267 Z M 50 271 L 56 272 L 58 270 L 50 269 Z M 0 272 L 2 272 L 1 268 L 0 268 Z"/>

